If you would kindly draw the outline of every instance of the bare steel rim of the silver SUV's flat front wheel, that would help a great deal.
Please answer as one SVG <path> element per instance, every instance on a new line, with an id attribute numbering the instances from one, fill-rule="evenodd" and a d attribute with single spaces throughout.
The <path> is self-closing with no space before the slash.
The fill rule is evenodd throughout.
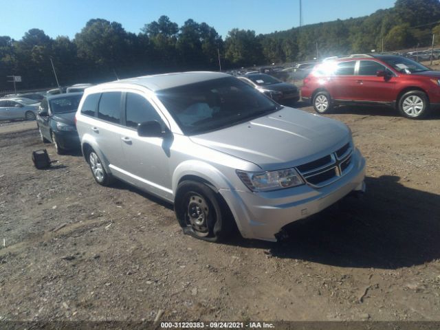
<path id="1" fill-rule="evenodd" d="M 203 197 L 195 192 L 191 192 L 188 197 L 188 207 L 186 215 L 189 224 L 197 236 L 205 237 L 209 234 L 208 217 L 209 206 Z"/>

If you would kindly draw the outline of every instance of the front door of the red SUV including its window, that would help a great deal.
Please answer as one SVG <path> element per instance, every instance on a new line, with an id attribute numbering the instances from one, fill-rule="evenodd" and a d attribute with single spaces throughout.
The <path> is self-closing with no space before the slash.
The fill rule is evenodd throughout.
<path id="1" fill-rule="evenodd" d="M 386 77 L 378 77 L 378 71 L 387 71 Z M 373 60 L 360 61 L 356 75 L 353 100 L 391 102 L 395 100 L 396 77 L 382 63 Z"/>

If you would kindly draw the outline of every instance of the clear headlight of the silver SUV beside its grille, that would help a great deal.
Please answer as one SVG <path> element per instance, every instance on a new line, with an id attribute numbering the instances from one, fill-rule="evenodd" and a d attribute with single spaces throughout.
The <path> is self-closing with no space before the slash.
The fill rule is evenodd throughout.
<path id="1" fill-rule="evenodd" d="M 255 192 L 292 188 L 304 184 L 295 168 L 267 172 L 236 170 L 236 174 L 239 175 L 245 186 Z"/>

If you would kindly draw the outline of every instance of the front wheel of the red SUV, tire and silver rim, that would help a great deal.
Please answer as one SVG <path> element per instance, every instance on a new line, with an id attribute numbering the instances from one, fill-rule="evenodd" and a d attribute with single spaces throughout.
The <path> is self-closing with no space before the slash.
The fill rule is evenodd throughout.
<path id="1" fill-rule="evenodd" d="M 406 118 L 425 118 L 430 112 L 428 96 L 423 91 L 407 91 L 399 98 L 398 109 Z"/>

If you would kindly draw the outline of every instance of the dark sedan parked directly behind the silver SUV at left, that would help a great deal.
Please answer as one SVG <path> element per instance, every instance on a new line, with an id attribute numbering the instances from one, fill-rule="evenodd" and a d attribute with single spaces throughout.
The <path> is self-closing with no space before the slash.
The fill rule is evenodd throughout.
<path id="1" fill-rule="evenodd" d="M 58 155 L 80 148 L 75 113 L 82 96 L 82 92 L 59 94 L 41 102 L 36 117 L 41 141 L 52 142 Z"/>

